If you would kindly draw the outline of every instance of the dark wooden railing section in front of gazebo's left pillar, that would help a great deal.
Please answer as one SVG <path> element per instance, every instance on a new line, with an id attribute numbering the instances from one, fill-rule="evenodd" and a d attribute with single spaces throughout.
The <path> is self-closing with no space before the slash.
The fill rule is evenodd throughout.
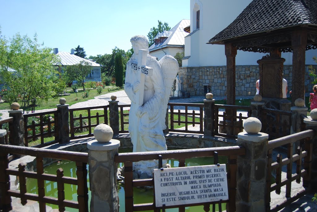
<path id="1" fill-rule="evenodd" d="M 220 109 L 225 109 L 223 114 L 221 114 L 222 111 L 220 111 Z M 242 116 L 242 113 L 237 115 L 237 110 L 245 110 L 248 114 L 247 116 Z M 238 133 L 243 131 L 243 119 L 247 119 L 250 116 L 251 108 L 249 106 L 215 104 L 213 135 L 237 138 Z M 220 117 L 223 119 L 222 121 L 219 120 Z"/>

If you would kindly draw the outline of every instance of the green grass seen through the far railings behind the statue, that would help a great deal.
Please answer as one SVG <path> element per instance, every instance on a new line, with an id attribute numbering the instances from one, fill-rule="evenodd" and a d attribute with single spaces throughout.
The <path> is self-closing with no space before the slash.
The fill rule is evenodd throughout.
<path id="1" fill-rule="evenodd" d="M 95 116 L 96 113 L 99 113 L 100 115 L 103 114 L 103 110 L 91 110 L 90 111 L 90 115 L 91 116 Z M 124 110 L 123 113 L 128 113 L 127 110 Z M 82 110 L 82 111 L 74 111 L 74 117 L 79 117 L 80 114 L 83 116 L 83 117 L 86 117 L 88 115 L 88 112 L 87 110 Z M 109 111 L 108 111 L 108 118 L 109 118 Z M 124 116 L 124 121 L 125 122 L 128 122 L 129 121 L 129 116 Z M 185 116 L 180 116 L 180 119 L 181 121 L 185 121 Z M 170 114 L 169 114 L 169 120 L 170 120 Z M 174 120 L 178 120 L 178 115 L 177 114 L 174 114 Z M 188 121 L 191 122 L 192 121 L 192 118 L 191 117 L 188 117 Z M 196 122 L 199 122 L 199 118 L 195 118 L 195 121 Z M 83 119 L 83 125 L 85 125 L 84 123 L 88 123 L 88 119 Z M 97 123 L 97 119 L 94 118 L 94 119 L 91 119 L 91 124 L 94 125 Z M 104 123 L 104 118 L 103 117 L 100 117 L 99 118 L 99 123 Z M 77 121 L 77 123 L 74 124 L 75 126 L 79 126 L 79 121 Z M 191 124 L 188 124 L 188 126 L 190 126 Z M 174 123 L 174 129 L 178 129 L 178 128 L 181 128 L 181 127 L 184 127 L 185 124 L 180 124 L 178 125 L 177 123 Z M 124 125 L 124 130 L 128 130 L 128 127 L 129 127 L 129 124 L 125 124 Z M 168 127 L 171 128 L 171 123 L 169 122 L 168 123 Z M 119 113 L 119 129 L 121 130 L 121 119 L 120 119 L 120 113 Z M 94 132 L 94 127 L 91 128 L 91 132 L 93 133 Z M 88 134 L 88 130 L 83 130 L 82 132 L 75 132 L 75 136 L 76 135 L 86 135 Z M 69 134 L 70 136 L 70 134 Z M 54 137 L 47 137 L 47 138 L 44 138 L 44 143 L 46 142 L 49 142 L 49 141 L 52 141 L 54 140 Z M 38 144 L 41 144 L 41 139 L 37 139 L 35 141 L 29 141 L 29 146 L 35 146 L 35 145 L 38 145 Z"/>

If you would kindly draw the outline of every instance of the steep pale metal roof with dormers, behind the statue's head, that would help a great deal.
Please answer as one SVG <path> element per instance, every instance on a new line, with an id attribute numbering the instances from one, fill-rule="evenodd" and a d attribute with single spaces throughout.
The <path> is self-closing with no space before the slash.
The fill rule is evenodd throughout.
<path id="1" fill-rule="evenodd" d="M 149 51 L 154 51 L 163 47 L 173 47 L 173 46 L 183 46 L 185 43 L 184 37 L 188 35 L 187 32 L 184 31 L 184 28 L 190 24 L 190 20 L 183 19 L 178 24 L 176 24 L 170 31 L 163 31 L 159 33 L 155 38 L 159 37 L 167 37 L 167 39 L 159 44 L 152 44 L 149 47 Z"/>

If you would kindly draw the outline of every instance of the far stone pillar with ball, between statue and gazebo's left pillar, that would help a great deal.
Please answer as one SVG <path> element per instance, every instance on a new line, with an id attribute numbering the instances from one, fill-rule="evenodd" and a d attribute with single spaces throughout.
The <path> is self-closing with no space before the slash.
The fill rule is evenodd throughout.
<path id="1" fill-rule="evenodd" d="M 212 98 L 212 93 L 207 93 L 206 99 L 204 100 L 204 136 L 213 135 L 215 100 Z"/>

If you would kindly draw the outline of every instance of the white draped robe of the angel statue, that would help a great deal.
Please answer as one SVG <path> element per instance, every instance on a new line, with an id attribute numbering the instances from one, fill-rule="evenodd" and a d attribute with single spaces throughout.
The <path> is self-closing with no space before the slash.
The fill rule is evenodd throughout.
<path id="1" fill-rule="evenodd" d="M 136 93 L 133 92 L 133 85 L 138 81 L 139 74 L 138 70 L 131 69 L 131 63 L 137 63 L 135 54 L 127 62 L 124 86 L 124 90 L 131 100 L 129 133 L 133 146 L 137 145 L 137 152 L 167 150 L 163 134 L 165 122 L 161 123 L 162 120 L 165 120 L 162 119 L 162 116 L 165 117 L 166 115 L 166 110 L 165 112 L 161 110 L 165 92 L 161 66 L 155 57 L 147 55 L 146 66 L 153 68 L 153 75 L 145 76 L 144 99 L 141 108 L 146 113 L 139 118 L 136 116 L 139 106 L 138 102 L 136 102 Z M 135 138 L 134 133 L 137 133 L 137 142 L 133 140 Z"/>

